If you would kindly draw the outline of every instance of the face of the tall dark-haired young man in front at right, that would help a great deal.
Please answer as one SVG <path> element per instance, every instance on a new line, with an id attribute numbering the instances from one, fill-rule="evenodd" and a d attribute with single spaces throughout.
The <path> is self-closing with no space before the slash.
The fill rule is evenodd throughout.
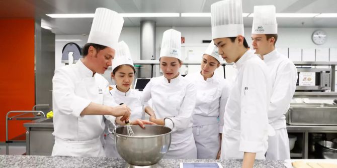
<path id="1" fill-rule="evenodd" d="M 235 39 L 234 43 L 229 38 L 213 39 L 213 41 L 214 45 L 219 48 L 219 54 L 227 63 L 236 62 L 240 58 L 238 38 Z"/>

